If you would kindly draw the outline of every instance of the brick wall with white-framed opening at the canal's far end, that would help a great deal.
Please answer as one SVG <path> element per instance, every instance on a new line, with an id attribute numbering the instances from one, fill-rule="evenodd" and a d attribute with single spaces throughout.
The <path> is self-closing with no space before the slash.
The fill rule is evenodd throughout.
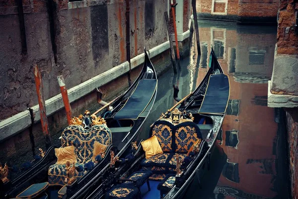
<path id="1" fill-rule="evenodd" d="M 276 24 L 279 0 L 197 0 L 199 18 Z"/>

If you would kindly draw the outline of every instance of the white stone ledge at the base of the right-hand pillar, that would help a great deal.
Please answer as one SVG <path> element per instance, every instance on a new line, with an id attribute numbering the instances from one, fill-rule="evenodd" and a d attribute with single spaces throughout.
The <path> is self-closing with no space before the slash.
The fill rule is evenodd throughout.
<path id="1" fill-rule="evenodd" d="M 268 106 L 269 107 L 298 107 L 298 96 L 292 95 L 277 95 L 270 92 L 271 81 L 268 81 Z"/>

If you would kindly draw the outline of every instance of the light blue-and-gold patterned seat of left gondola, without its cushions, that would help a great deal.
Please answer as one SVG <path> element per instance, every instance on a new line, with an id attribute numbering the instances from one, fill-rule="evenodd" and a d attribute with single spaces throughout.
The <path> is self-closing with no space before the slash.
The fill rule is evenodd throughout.
<path id="1" fill-rule="evenodd" d="M 84 167 L 85 163 L 94 162 L 93 150 L 95 141 L 106 147 L 112 143 L 112 133 L 106 124 L 90 124 L 90 128 L 83 128 L 82 125 L 70 125 L 62 132 L 62 148 L 74 146 L 75 167 Z M 73 161 L 70 163 L 73 164 Z M 75 170 L 74 177 L 82 177 L 86 172 L 85 170 L 81 172 Z M 66 173 L 65 163 L 51 165 L 48 170 L 48 182 L 50 186 L 64 186 Z"/>

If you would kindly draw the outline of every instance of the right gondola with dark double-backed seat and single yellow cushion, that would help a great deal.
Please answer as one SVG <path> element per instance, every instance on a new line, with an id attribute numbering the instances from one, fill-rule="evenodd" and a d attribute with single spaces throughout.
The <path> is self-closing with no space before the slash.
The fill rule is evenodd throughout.
<path id="1" fill-rule="evenodd" d="M 131 154 L 112 158 L 106 180 L 82 198 L 183 198 L 195 176 L 210 168 L 229 99 L 229 80 L 213 49 L 209 67 L 198 88 L 182 100 L 174 86 L 179 102 L 147 127 L 148 139 L 133 142 Z"/>

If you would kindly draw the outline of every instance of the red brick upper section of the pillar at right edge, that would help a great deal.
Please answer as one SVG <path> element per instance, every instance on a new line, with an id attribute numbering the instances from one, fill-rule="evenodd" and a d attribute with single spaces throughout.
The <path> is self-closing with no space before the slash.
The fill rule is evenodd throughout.
<path id="1" fill-rule="evenodd" d="M 298 12 L 298 2 L 293 0 L 281 0 L 278 32 L 277 32 L 277 53 L 297 55 L 298 54 L 298 28 L 296 25 L 296 15 Z"/>

